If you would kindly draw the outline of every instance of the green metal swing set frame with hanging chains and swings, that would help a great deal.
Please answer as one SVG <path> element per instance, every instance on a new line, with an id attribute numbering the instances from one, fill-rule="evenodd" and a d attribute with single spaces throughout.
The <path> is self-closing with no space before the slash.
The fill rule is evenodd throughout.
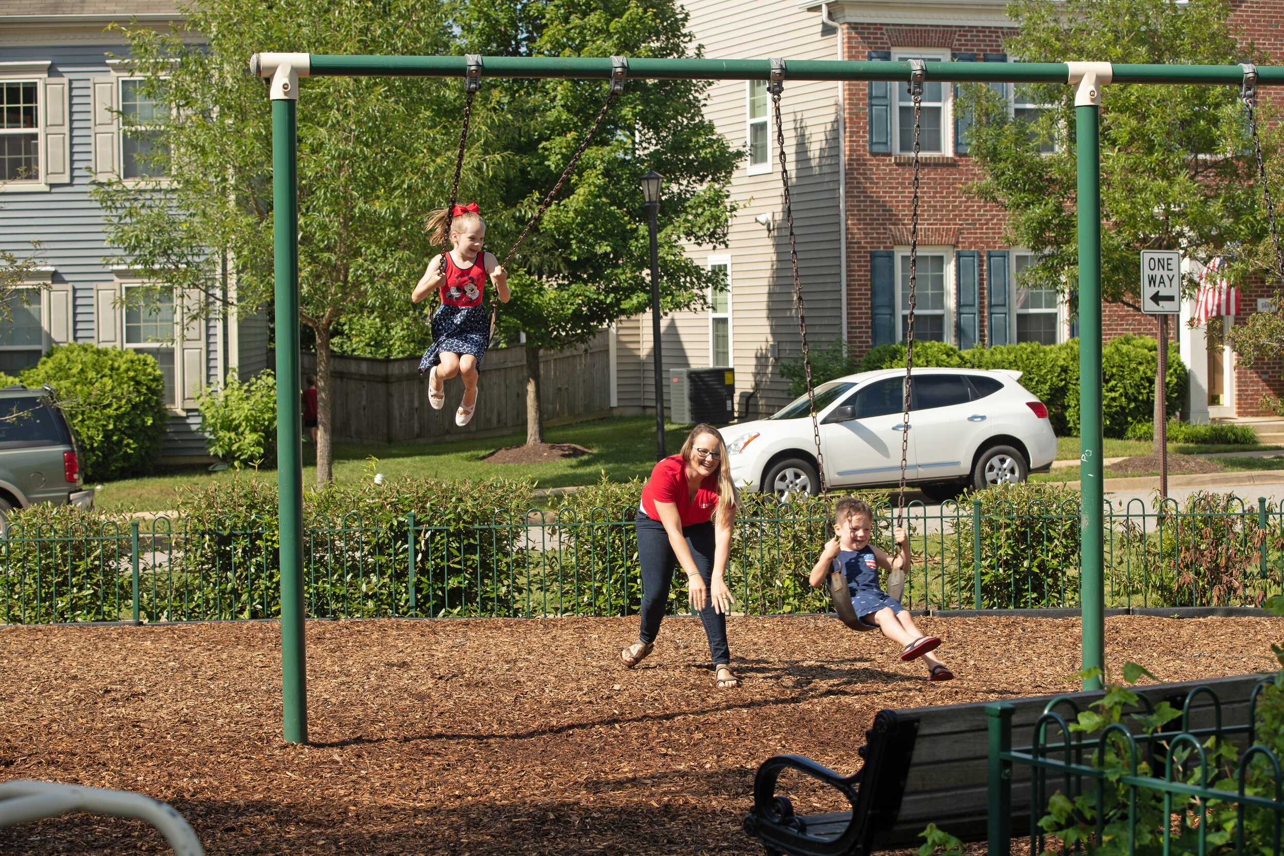
<path id="1" fill-rule="evenodd" d="M 602 121 L 624 91 L 627 78 L 641 80 L 765 80 L 772 95 L 776 119 L 776 141 L 779 150 L 781 186 L 785 222 L 790 241 L 790 263 L 794 276 L 794 305 L 802 347 L 811 429 L 815 440 L 819 489 L 824 493 L 824 457 L 820 429 L 815 412 L 815 390 L 806 335 L 802 284 L 799 276 L 797 249 L 794 234 L 794 212 L 790 201 L 790 173 L 785 148 L 785 126 L 781 121 L 781 95 L 785 81 L 889 81 L 908 86 L 914 112 L 913 126 L 913 194 L 910 203 L 910 245 L 908 318 L 905 332 L 905 384 L 901 430 L 900 485 L 896 504 L 896 526 L 905 518 L 905 470 L 909 441 L 909 408 L 914 367 L 914 307 L 918 267 L 919 225 L 919 135 L 922 96 L 926 80 L 941 82 L 1009 82 L 1067 83 L 1075 86 L 1076 155 L 1077 155 L 1077 225 L 1079 225 L 1079 305 L 1080 305 L 1080 438 L 1081 438 L 1081 507 L 1082 538 L 1080 579 L 1082 592 L 1082 665 L 1104 665 L 1104 543 L 1102 484 L 1102 304 L 1100 304 L 1100 91 L 1109 83 L 1183 83 L 1206 86 L 1238 86 L 1240 100 L 1248 110 L 1249 131 L 1257 162 L 1258 180 L 1265 194 L 1271 237 L 1275 243 L 1276 266 L 1284 285 L 1284 252 L 1280 250 L 1275 226 L 1275 209 L 1266 186 L 1266 167 L 1257 132 L 1257 87 L 1284 83 L 1284 68 L 1240 65 L 1141 65 L 1095 62 L 1072 63 L 995 63 L 968 62 L 886 62 L 886 60 L 740 60 L 740 59 L 625 59 L 559 58 L 559 56 L 339 56 L 322 54 L 254 54 L 250 73 L 271 81 L 272 101 L 272 196 L 273 255 L 276 275 L 276 348 L 277 384 L 277 449 L 281 567 L 281 684 L 284 732 L 288 742 L 307 742 L 307 667 L 303 640 L 303 504 L 302 449 L 299 445 L 299 400 L 291 391 L 298 388 L 298 189 L 297 189 L 297 110 L 299 78 L 317 76 L 395 76 L 395 77 L 460 77 L 464 81 L 464 122 L 458 154 L 447 205 L 447 231 L 455 209 L 460 173 L 467 145 L 473 100 L 483 77 L 546 77 L 607 80 L 609 90 L 597 118 L 562 171 L 552 190 L 544 196 L 535 214 L 505 255 L 507 266 L 525 241 L 530 230 L 552 204 L 553 198 L 575 171 L 580 157 L 592 144 Z M 443 249 L 443 270 L 444 270 Z M 497 305 L 490 300 L 490 334 L 494 335 Z M 894 571 L 889 593 L 900 598 L 904 571 Z M 829 578 L 835 607 L 845 625 L 868 631 L 845 597 L 846 579 Z M 844 606 L 846 607 L 844 610 Z M 1099 689 L 1100 679 L 1084 681 L 1085 689 Z"/>

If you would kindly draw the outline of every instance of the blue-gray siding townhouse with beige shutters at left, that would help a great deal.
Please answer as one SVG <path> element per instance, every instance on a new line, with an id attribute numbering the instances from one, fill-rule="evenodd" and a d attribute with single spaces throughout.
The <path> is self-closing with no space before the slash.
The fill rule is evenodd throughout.
<path id="1" fill-rule="evenodd" d="M 0 371 L 35 364 L 53 344 L 78 341 L 145 350 L 166 376 L 171 418 L 163 461 L 205 459 L 196 390 L 235 367 L 267 366 L 263 313 L 176 325 L 172 314 L 128 309 L 139 271 L 112 255 L 90 182 L 146 178 L 140 141 L 118 112 L 152 109 L 113 55 L 125 53 L 113 22 L 168 28 L 169 0 L 6 0 L 0 6 L 0 248 L 19 255 L 41 243 L 39 304 L 15 304 L 0 323 Z"/>

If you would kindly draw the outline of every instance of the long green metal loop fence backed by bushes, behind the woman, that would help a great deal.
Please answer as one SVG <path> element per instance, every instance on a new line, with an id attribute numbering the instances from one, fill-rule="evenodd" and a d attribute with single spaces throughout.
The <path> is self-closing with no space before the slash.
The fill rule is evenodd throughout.
<path id="1" fill-rule="evenodd" d="M 808 574 L 831 521 L 819 502 L 754 504 L 736 520 L 736 612 L 815 613 Z M 1284 592 L 1284 512 L 1260 499 L 1195 497 L 1103 509 L 1108 607 L 1260 606 Z M 309 617 L 627 616 L 641 603 L 634 507 L 497 509 L 460 524 L 433 513 L 351 511 L 304 526 Z M 891 549 L 892 508 L 876 507 Z M 918 610 L 1080 606 L 1079 503 L 981 499 L 910 506 Z M 6 624 L 205 621 L 280 615 L 275 520 L 10 526 L 0 538 Z M 678 575 L 681 578 L 681 575 Z M 686 611 L 681 580 L 670 612 Z"/>

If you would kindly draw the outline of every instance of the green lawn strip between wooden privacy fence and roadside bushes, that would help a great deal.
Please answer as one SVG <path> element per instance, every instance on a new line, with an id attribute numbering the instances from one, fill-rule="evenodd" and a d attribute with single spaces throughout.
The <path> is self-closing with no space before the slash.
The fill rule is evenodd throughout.
<path id="1" fill-rule="evenodd" d="M 666 424 L 665 440 L 670 454 L 677 453 L 687 439 L 690 426 Z M 597 481 L 606 474 L 611 481 L 627 481 L 646 476 L 655 466 L 655 417 L 630 416 L 594 420 L 550 427 L 544 431 L 548 443 L 578 443 L 594 454 L 565 461 L 534 465 L 483 463 L 480 458 L 506 445 L 525 443 L 525 431 L 457 443 L 404 443 L 395 445 L 339 445 L 334 456 L 335 481 L 354 483 L 365 476 L 367 458 L 379 458 L 377 472 L 388 479 L 489 479 L 526 477 L 541 488 L 564 488 Z M 311 444 L 303 444 L 303 484 L 316 484 L 316 454 Z M 265 471 L 275 475 L 275 471 Z M 107 483 L 94 497 L 94 504 L 105 509 L 168 511 L 173 508 L 178 485 L 230 481 L 235 472 L 208 472 L 204 468 L 176 475 L 127 479 Z"/>

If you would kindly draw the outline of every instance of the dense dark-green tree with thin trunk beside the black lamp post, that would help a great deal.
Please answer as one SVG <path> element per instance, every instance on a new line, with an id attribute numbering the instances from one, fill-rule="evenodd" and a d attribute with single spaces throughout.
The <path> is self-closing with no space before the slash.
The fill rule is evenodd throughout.
<path id="1" fill-rule="evenodd" d="M 698 56 L 687 13 L 673 0 L 460 3 L 458 53 L 503 56 Z M 575 175 L 510 264 L 512 300 L 499 309 L 508 341 L 525 334 L 526 443 L 543 441 L 539 352 L 589 341 L 650 307 L 650 237 L 638 178 L 663 173 L 661 307 L 701 305 L 722 284 L 682 241 L 723 245 L 733 207 L 727 185 L 742 153 L 704 118 L 707 85 L 628 81 Z M 474 158 L 506 155 L 502 181 L 465 169 L 461 199 L 480 198 L 487 241 L 502 261 L 570 160 L 606 96 L 602 81 L 484 80 L 479 112 L 503 117 Z M 656 390 L 657 395 L 663 394 Z"/>

